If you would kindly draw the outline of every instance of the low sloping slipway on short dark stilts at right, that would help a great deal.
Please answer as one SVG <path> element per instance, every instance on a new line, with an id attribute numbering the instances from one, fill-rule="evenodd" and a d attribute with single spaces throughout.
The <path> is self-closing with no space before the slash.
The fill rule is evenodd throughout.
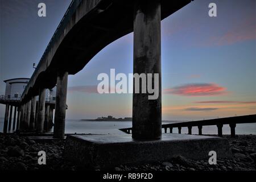
<path id="1" fill-rule="evenodd" d="M 172 129 L 177 128 L 178 133 L 181 134 L 181 128 L 187 127 L 188 134 L 192 134 L 192 127 L 198 127 L 199 135 L 202 135 L 203 126 L 217 126 L 218 129 L 218 137 L 222 137 L 222 127 L 223 125 L 229 125 L 231 137 L 236 136 L 236 124 L 241 123 L 256 123 L 256 114 L 254 115 L 243 115 L 229 118 L 217 118 L 217 119 L 208 119 L 203 121 L 189 121 L 189 122 L 179 122 L 179 123 L 170 123 L 166 125 L 162 125 L 162 129 L 164 129 L 164 133 L 167 133 L 167 129 L 169 129 L 170 133 L 172 133 Z M 132 128 L 119 129 L 127 134 L 132 132 Z"/>

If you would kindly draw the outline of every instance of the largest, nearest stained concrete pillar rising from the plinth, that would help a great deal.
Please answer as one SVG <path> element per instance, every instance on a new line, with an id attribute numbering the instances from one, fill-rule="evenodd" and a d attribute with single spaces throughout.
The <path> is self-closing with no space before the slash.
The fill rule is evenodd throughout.
<path id="1" fill-rule="evenodd" d="M 158 73 L 159 96 L 155 100 L 149 100 L 148 96 L 151 94 L 142 93 L 141 84 L 139 86 L 140 93 L 133 93 L 132 136 L 134 139 L 160 139 L 162 135 L 162 97 L 160 3 L 158 1 L 135 2 L 133 72 L 139 75 L 152 73 L 152 88 L 156 87 L 154 74 Z"/>

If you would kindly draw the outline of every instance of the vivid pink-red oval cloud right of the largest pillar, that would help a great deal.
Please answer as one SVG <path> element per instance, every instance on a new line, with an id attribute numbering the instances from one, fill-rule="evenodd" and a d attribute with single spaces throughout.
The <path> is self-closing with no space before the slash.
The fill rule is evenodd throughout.
<path id="1" fill-rule="evenodd" d="M 226 88 L 217 84 L 196 83 L 176 86 L 171 89 L 164 89 L 165 94 L 177 94 L 180 96 L 219 96 L 226 94 Z"/>

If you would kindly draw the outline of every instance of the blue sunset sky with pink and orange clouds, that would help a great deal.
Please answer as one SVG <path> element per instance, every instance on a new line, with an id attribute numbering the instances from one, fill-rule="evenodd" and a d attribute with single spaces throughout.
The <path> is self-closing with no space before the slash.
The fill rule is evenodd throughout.
<path id="1" fill-rule="evenodd" d="M 31 77 L 70 0 L 0 0 L 0 95 L 9 78 Z M 37 15 L 44 2 L 47 17 Z M 208 5 L 217 5 L 209 17 Z M 256 114 L 256 1 L 195 0 L 162 20 L 162 118 Z M 133 34 L 68 77 L 68 119 L 131 117 L 132 94 L 98 94 L 99 73 L 133 73 Z M 0 105 L 0 117 L 5 106 Z"/>

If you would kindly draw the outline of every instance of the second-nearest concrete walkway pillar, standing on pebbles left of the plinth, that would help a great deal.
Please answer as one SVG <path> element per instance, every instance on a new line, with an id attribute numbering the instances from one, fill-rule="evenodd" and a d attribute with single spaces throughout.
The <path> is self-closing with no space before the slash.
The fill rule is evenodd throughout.
<path id="1" fill-rule="evenodd" d="M 68 72 L 59 72 L 57 75 L 54 138 L 64 138 L 65 117 L 67 103 Z"/>

